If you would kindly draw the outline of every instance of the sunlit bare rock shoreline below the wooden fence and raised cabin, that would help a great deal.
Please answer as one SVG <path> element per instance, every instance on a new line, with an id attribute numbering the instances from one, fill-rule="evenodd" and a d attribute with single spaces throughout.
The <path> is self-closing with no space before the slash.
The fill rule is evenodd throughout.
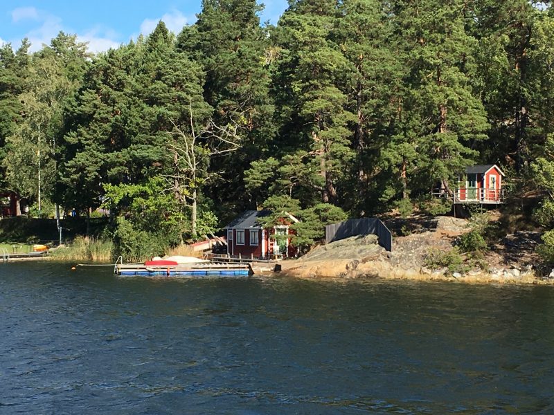
<path id="1" fill-rule="evenodd" d="M 430 250 L 451 250 L 456 237 L 467 232 L 467 221 L 440 216 L 436 223 L 406 237 L 394 239 L 392 252 L 378 245 L 376 235 L 350 237 L 318 246 L 300 259 L 283 261 L 281 273 L 299 278 L 441 280 L 467 283 L 551 284 L 554 278 L 539 277 L 532 260 L 513 261 L 506 252 L 492 247 L 485 255 L 485 270 L 475 267 L 464 273 L 447 268 L 429 268 Z M 521 235 L 517 236 L 521 239 Z M 513 241 L 515 237 L 509 237 Z M 530 242 L 524 240 L 520 243 Z M 508 243 L 508 248 L 514 242 Z M 532 245 L 532 243 L 531 243 Z M 521 250 L 519 246 L 519 250 Z M 521 252 L 519 252 L 521 254 Z"/>

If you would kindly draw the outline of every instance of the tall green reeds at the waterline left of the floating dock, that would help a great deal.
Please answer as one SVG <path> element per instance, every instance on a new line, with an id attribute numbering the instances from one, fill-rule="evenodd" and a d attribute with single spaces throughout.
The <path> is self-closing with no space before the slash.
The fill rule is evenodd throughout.
<path id="1" fill-rule="evenodd" d="M 50 251 L 51 259 L 55 261 L 91 261 L 109 262 L 114 243 L 109 239 L 76 237 L 66 247 Z"/>

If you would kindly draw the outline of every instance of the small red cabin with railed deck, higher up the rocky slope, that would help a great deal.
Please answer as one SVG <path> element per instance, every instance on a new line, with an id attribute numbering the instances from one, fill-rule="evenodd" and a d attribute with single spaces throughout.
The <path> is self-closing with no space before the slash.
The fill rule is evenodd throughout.
<path id="1" fill-rule="evenodd" d="M 466 167 L 465 174 L 458 175 L 454 203 L 503 203 L 503 177 L 504 174 L 497 165 Z"/>

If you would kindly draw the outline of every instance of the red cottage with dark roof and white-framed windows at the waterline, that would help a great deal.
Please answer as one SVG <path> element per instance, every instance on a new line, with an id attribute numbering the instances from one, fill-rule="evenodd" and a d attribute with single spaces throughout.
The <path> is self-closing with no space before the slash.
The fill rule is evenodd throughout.
<path id="1" fill-rule="evenodd" d="M 227 254 L 231 257 L 253 257 L 268 259 L 274 257 L 294 257 L 297 250 L 290 243 L 293 234 L 292 223 L 298 222 L 292 214 L 283 212 L 280 224 L 263 228 L 258 219 L 267 217 L 271 210 L 247 210 L 225 226 Z M 280 235 L 281 237 L 275 237 Z M 286 236 L 286 237 L 285 237 Z"/>

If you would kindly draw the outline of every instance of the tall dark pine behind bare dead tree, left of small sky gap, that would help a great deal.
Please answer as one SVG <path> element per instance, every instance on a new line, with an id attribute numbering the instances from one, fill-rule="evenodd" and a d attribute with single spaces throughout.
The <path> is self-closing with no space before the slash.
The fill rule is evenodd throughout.
<path id="1" fill-rule="evenodd" d="M 184 28 L 177 40 L 179 50 L 190 53 L 206 72 L 204 97 L 215 109 L 213 122 L 237 126 L 242 138 L 240 151 L 220 156 L 211 166 L 209 196 L 222 211 L 236 209 L 229 201 L 238 202 L 238 210 L 247 203 L 244 170 L 265 154 L 276 132 L 261 10 L 256 0 L 204 0 L 195 25 Z"/>

